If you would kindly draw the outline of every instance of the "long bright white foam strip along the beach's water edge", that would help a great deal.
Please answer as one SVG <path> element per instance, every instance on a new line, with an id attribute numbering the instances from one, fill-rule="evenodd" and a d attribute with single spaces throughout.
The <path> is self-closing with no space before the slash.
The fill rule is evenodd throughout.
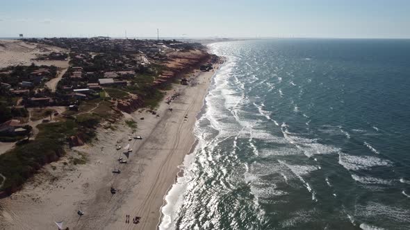
<path id="1" fill-rule="evenodd" d="M 235 127 L 233 125 L 229 127 L 229 125 L 226 125 L 225 123 L 222 125 L 221 122 L 222 120 L 229 119 L 229 116 L 222 113 L 222 109 L 225 109 L 224 106 L 227 105 L 228 107 L 236 107 L 238 104 L 233 102 L 233 100 L 240 98 L 235 95 L 233 91 L 223 90 L 227 87 L 226 78 L 229 78 L 231 69 L 235 64 L 234 60 L 235 57 L 228 58 L 227 62 L 215 73 L 216 76 L 213 78 L 213 85 L 211 86 L 212 89 L 206 96 L 205 114 L 199 118 L 195 126 L 194 133 L 199 141 L 195 148 L 195 152 L 199 152 L 200 154 L 206 152 L 204 148 L 214 148 L 215 143 L 218 143 L 220 139 L 227 138 L 234 133 L 240 132 L 240 127 Z M 231 100 L 230 102 L 228 101 L 226 105 L 220 104 L 222 102 L 222 100 L 219 100 L 221 93 L 228 94 L 225 96 L 225 100 Z M 229 96 L 231 96 L 231 98 L 229 98 Z M 208 126 L 204 128 L 209 130 L 209 132 L 198 130 L 199 123 L 208 123 Z M 217 137 L 215 137 L 215 131 L 217 132 L 216 134 L 218 134 Z M 209 143 L 209 145 L 206 146 L 205 143 Z M 206 154 L 204 154 L 204 156 L 206 158 L 210 157 Z M 199 161 L 204 161 L 205 157 L 199 158 Z M 175 229 L 176 220 L 183 204 L 183 197 L 185 196 L 190 183 L 190 177 L 192 177 L 190 170 L 194 160 L 195 154 L 186 155 L 183 161 L 183 166 L 181 166 L 184 170 L 183 177 L 177 178 L 177 182 L 170 188 L 170 191 L 168 191 L 167 195 L 164 197 L 165 204 L 161 207 L 161 223 L 158 226 L 161 230 Z"/>

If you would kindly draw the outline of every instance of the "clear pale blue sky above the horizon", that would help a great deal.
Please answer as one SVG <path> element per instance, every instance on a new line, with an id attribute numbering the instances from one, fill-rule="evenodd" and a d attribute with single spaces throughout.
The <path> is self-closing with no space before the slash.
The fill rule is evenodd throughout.
<path id="1" fill-rule="evenodd" d="M 410 38 L 410 0 L 1 0 L 0 37 Z M 186 34 L 186 35 L 183 35 Z"/>

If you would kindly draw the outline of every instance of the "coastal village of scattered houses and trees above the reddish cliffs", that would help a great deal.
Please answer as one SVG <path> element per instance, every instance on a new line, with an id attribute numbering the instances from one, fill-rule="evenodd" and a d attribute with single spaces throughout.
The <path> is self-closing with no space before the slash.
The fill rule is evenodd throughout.
<path id="1" fill-rule="evenodd" d="M 69 53 L 53 52 L 39 57 L 40 60 L 66 60 L 69 67 L 58 69 L 31 64 L 0 70 L 0 106 L 5 111 L 0 125 L 1 141 L 19 141 L 31 134 L 28 126 L 34 119 L 28 118 L 31 114 L 28 109 L 43 116 L 42 123 L 48 123 L 53 116 L 84 113 L 91 104 L 101 101 L 109 102 L 113 113 L 116 109 L 133 112 L 145 105 L 155 107 L 162 98 L 161 89 L 176 80 L 188 85 L 186 73 L 200 65 L 209 71 L 206 63 L 209 66 L 218 61 L 217 57 L 204 53 L 200 44 L 175 40 L 95 37 L 24 39 L 24 42 L 69 50 Z M 60 114 L 60 109 L 54 107 L 65 107 L 65 112 Z M 41 108 L 41 111 L 30 108 Z"/>

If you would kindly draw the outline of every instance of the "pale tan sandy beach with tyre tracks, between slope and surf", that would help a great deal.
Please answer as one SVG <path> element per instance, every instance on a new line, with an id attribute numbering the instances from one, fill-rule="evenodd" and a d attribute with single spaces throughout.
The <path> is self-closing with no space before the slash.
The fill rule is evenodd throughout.
<path id="1" fill-rule="evenodd" d="M 97 141 L 68 150 L 45 166 L 21 191 L 0 200 L 0 229 L 56 229 L 58 221 L 69 229 L 156 229 L 177 166 L 195 143 L 195 116 L 213 73 L 197 71 L 190 86 L 174 85 L 165 98 L 176 92 L 180 96 L 170 105 L 161 102 L 159 116 L 143 109 L 124 113 L 115 130 L 99 128 Z M 129 141 L 131 128 L 124 121 L 131 118 L 138 122 L 136 134 L 142 140 Z M 116 150 L 117 141 L 122 147 L 130 143 L 133 152 Z M 120 156 L 128 162 L 119 164 Z M 86 157 L 87 163 L 74 166 L 68 163 L 72 157 Z M 114 168 L 121 173 L 114 174 Z M 111 186 L 117 189 L 114 195 Z M 79 209 L 85 213 L 81 217 Z M 133 224 L 136 216 L 140 222 Z"/>

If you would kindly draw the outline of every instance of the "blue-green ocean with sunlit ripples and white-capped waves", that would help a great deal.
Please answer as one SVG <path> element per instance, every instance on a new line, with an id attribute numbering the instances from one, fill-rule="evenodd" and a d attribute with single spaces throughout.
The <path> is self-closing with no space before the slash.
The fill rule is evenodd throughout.
<path id="1" fill-rule="evenodd" d="M 227 62 L 160 229 L 410 229 L 410 40 L 209 48 Z"/>

